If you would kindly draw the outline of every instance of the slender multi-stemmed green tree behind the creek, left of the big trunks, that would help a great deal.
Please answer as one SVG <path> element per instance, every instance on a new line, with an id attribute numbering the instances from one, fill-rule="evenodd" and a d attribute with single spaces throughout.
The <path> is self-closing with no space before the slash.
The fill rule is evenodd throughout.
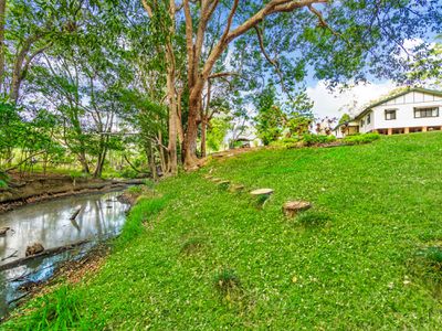
<path id="1" fill-rule="evenodd" d="M 120 108 L 119 89 L 131 82 L 120 35 L 124 26 L 106 20 L 109 12 L 88 7 L 82 25 L 44 53 L 30 73 L 28 103 L 40 104 L 62 124 L 62 140 L 77 156 L 83 171 L 101 177 L 108 149 L 116 145 L 115 124 Z"/>

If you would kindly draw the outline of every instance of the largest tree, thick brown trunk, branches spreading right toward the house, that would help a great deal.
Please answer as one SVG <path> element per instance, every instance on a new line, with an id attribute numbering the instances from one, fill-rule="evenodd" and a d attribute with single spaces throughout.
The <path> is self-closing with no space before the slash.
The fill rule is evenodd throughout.
<path id="1" fill-rule="evenodd" d="M 158 3 L 162 2 L 144 1 L 150 7 L 147 11 L 151 18 L 157 14 L 151 7 Z M 241 42 L 263 54 L 284 86 L 303 79 L 308 67 L 316 77 L 336 83 L 399 70 L 403 41 L 425 36 L 430 25 L 441 24 L 436 0 L 183 0 L 178 6 L 170 1 L 166 8 L 169 35 L 181 32 L 176 26 L 185 25 L 186 31 L 189 96 L 183 152 L 188 168 L 198 163 L 198 122 L 204 88 L 210 79 L 235 71 L 218 68 L 229 52 L 242 51 Z M 213 46 L 204 47 L 209 30 L 215 31 L 211 33 Z M 173 52 L 170 43 L 164 44 Z M 267 46 L 276 47 L 276 56 L 271 56 Z M 166 61 L 173 66 L 172 58 Z"/>

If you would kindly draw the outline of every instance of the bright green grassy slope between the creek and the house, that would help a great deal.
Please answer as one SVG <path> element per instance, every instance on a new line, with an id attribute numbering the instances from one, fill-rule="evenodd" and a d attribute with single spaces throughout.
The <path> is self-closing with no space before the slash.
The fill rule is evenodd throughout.
<path id="1" fill-rule="evenodd" d="M 246 191 L 217 188 L 210 170 Z M 262 210 L 259 188 L 274 189 Z M 243 153 L 158 192 L 96 276 L 3 327 L 441 329 L 441 132 Z M 313 209 L 284 217 L 298 199 Z"/>

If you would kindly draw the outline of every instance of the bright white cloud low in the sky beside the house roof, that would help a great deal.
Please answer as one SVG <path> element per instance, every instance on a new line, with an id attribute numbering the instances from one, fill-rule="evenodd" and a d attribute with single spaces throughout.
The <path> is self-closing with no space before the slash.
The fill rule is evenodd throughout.
<path id="1" fill-rule="evenodd" d="M 349 113 L 350 106 L 356 104 L 356 108 L 362 107 L 370 100 L 377 99 L 380 96 L 389 93 L 396 86 L 392 82 L 370 83 L 357 85 L 351 88 L 339 92 L 330 92 L 327 89 L 325 82 L 319 81 L 315 86 L 307 87 L 307 95 L 315 103 L 313 113 L 317 118 L 337 117 L 339 118 L 345 113 Z M 356 114 L 352 114 L 356 115 Z"/>

